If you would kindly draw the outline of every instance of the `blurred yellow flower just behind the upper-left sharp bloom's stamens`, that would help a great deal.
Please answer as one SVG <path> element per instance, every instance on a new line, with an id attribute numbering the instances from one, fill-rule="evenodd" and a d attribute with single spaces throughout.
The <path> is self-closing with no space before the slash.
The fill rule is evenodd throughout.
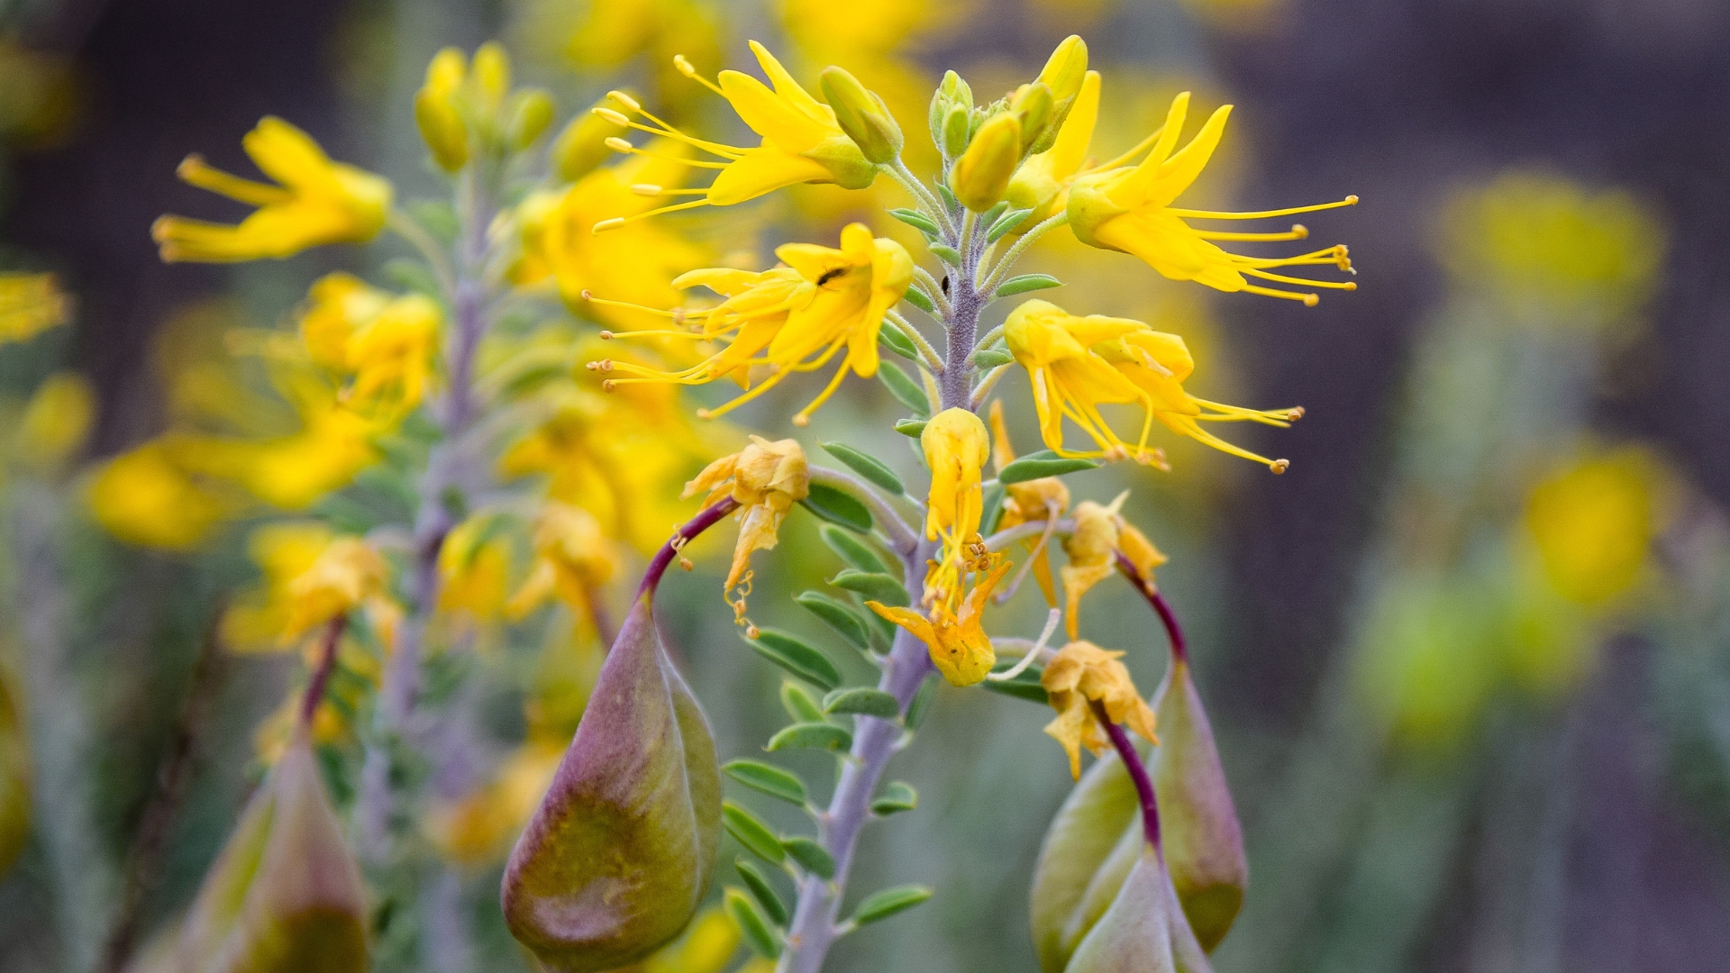
<path id="1" fill-rule="evenodd" d="M 614 327 L 654 324 L 656 315 L 638 308 L 614 303 L 585 308 L 583 293 L 606 287 L 611 298 L 630 305 L 671 305 L 678 289 L 668 280 L 699 265 L 704 251 L 685 234 L 668 232 L 652 222 L 631 223 L 600 239 L 590 229 L 604 215 L 652 208 L 652 196 L 644 192 L 678 185 L 683 166 L 676 159 L 683 154 L 683 145 L 663 140 L 654 156 L 590 171 L 559 192 L 529 196 L 517 208 L 522 261 L 512 274 L 514 280 L 526 286 L 550 277 L 573 310 L 595 308 Z"/>

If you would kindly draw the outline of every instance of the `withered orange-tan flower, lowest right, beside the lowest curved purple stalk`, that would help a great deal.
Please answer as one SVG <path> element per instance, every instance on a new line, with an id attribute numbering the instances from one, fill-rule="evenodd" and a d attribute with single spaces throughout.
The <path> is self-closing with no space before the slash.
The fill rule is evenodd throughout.
<path id="1" fill-rule="evenodd" d="M 1093 642 L 1069 642 L 1040 675 L 1040 686 L 1050 694 L 1052 708 L 1057 710 L 1057 718 L 1045 725 L 1045 732 L 1064 744 L 1064 751 L 1069 753 L 1069 774 L 1078 781 L 1081 748 L 1097 757 L 1111 746 L 1093 715 L 1095 701 L 1104 705 L 1105 718 L 1111 722 L 1128 725 L 1149 743 L 1159 743 L 1154 734 L 1154 712 L 1135 689 L 1130 670 L 1118 661 L 1119 658 L 1123 653 L 1102 649 Z"/>

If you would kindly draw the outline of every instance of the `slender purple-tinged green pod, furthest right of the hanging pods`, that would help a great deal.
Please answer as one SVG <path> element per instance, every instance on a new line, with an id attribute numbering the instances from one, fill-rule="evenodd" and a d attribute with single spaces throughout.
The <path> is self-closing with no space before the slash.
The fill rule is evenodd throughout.
<path id="1" fill-rule="evenodd" d="M 1159 746 L 1150 770 L 1159 802 L 1159 850 L 1195 938 L 1213 952 L 1244 905 L 1249 859 L 1213 727 L 1183 658 L 1171 660 L 1154 694 L 1154 713 Z"/>

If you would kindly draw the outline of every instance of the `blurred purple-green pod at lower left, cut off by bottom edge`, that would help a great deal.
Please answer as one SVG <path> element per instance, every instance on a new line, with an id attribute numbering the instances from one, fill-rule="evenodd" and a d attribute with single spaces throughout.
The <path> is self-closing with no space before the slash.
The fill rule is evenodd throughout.
<path id="1" fill-rule="evenodd" d="M 298 732 L 211 864 L 175 947 L 185 973 L 365 973 L 360 869 Z"/>

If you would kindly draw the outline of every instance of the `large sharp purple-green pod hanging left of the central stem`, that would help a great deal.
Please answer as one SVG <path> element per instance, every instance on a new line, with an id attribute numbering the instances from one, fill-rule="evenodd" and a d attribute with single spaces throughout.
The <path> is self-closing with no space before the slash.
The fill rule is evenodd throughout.
<path id="1" fill-rule="evenodd" d="M 695 914 L 720 826 L 714 739 L 640 597 L 510 852 L 510 935 L 554 973 L 642 959 Z"/>

